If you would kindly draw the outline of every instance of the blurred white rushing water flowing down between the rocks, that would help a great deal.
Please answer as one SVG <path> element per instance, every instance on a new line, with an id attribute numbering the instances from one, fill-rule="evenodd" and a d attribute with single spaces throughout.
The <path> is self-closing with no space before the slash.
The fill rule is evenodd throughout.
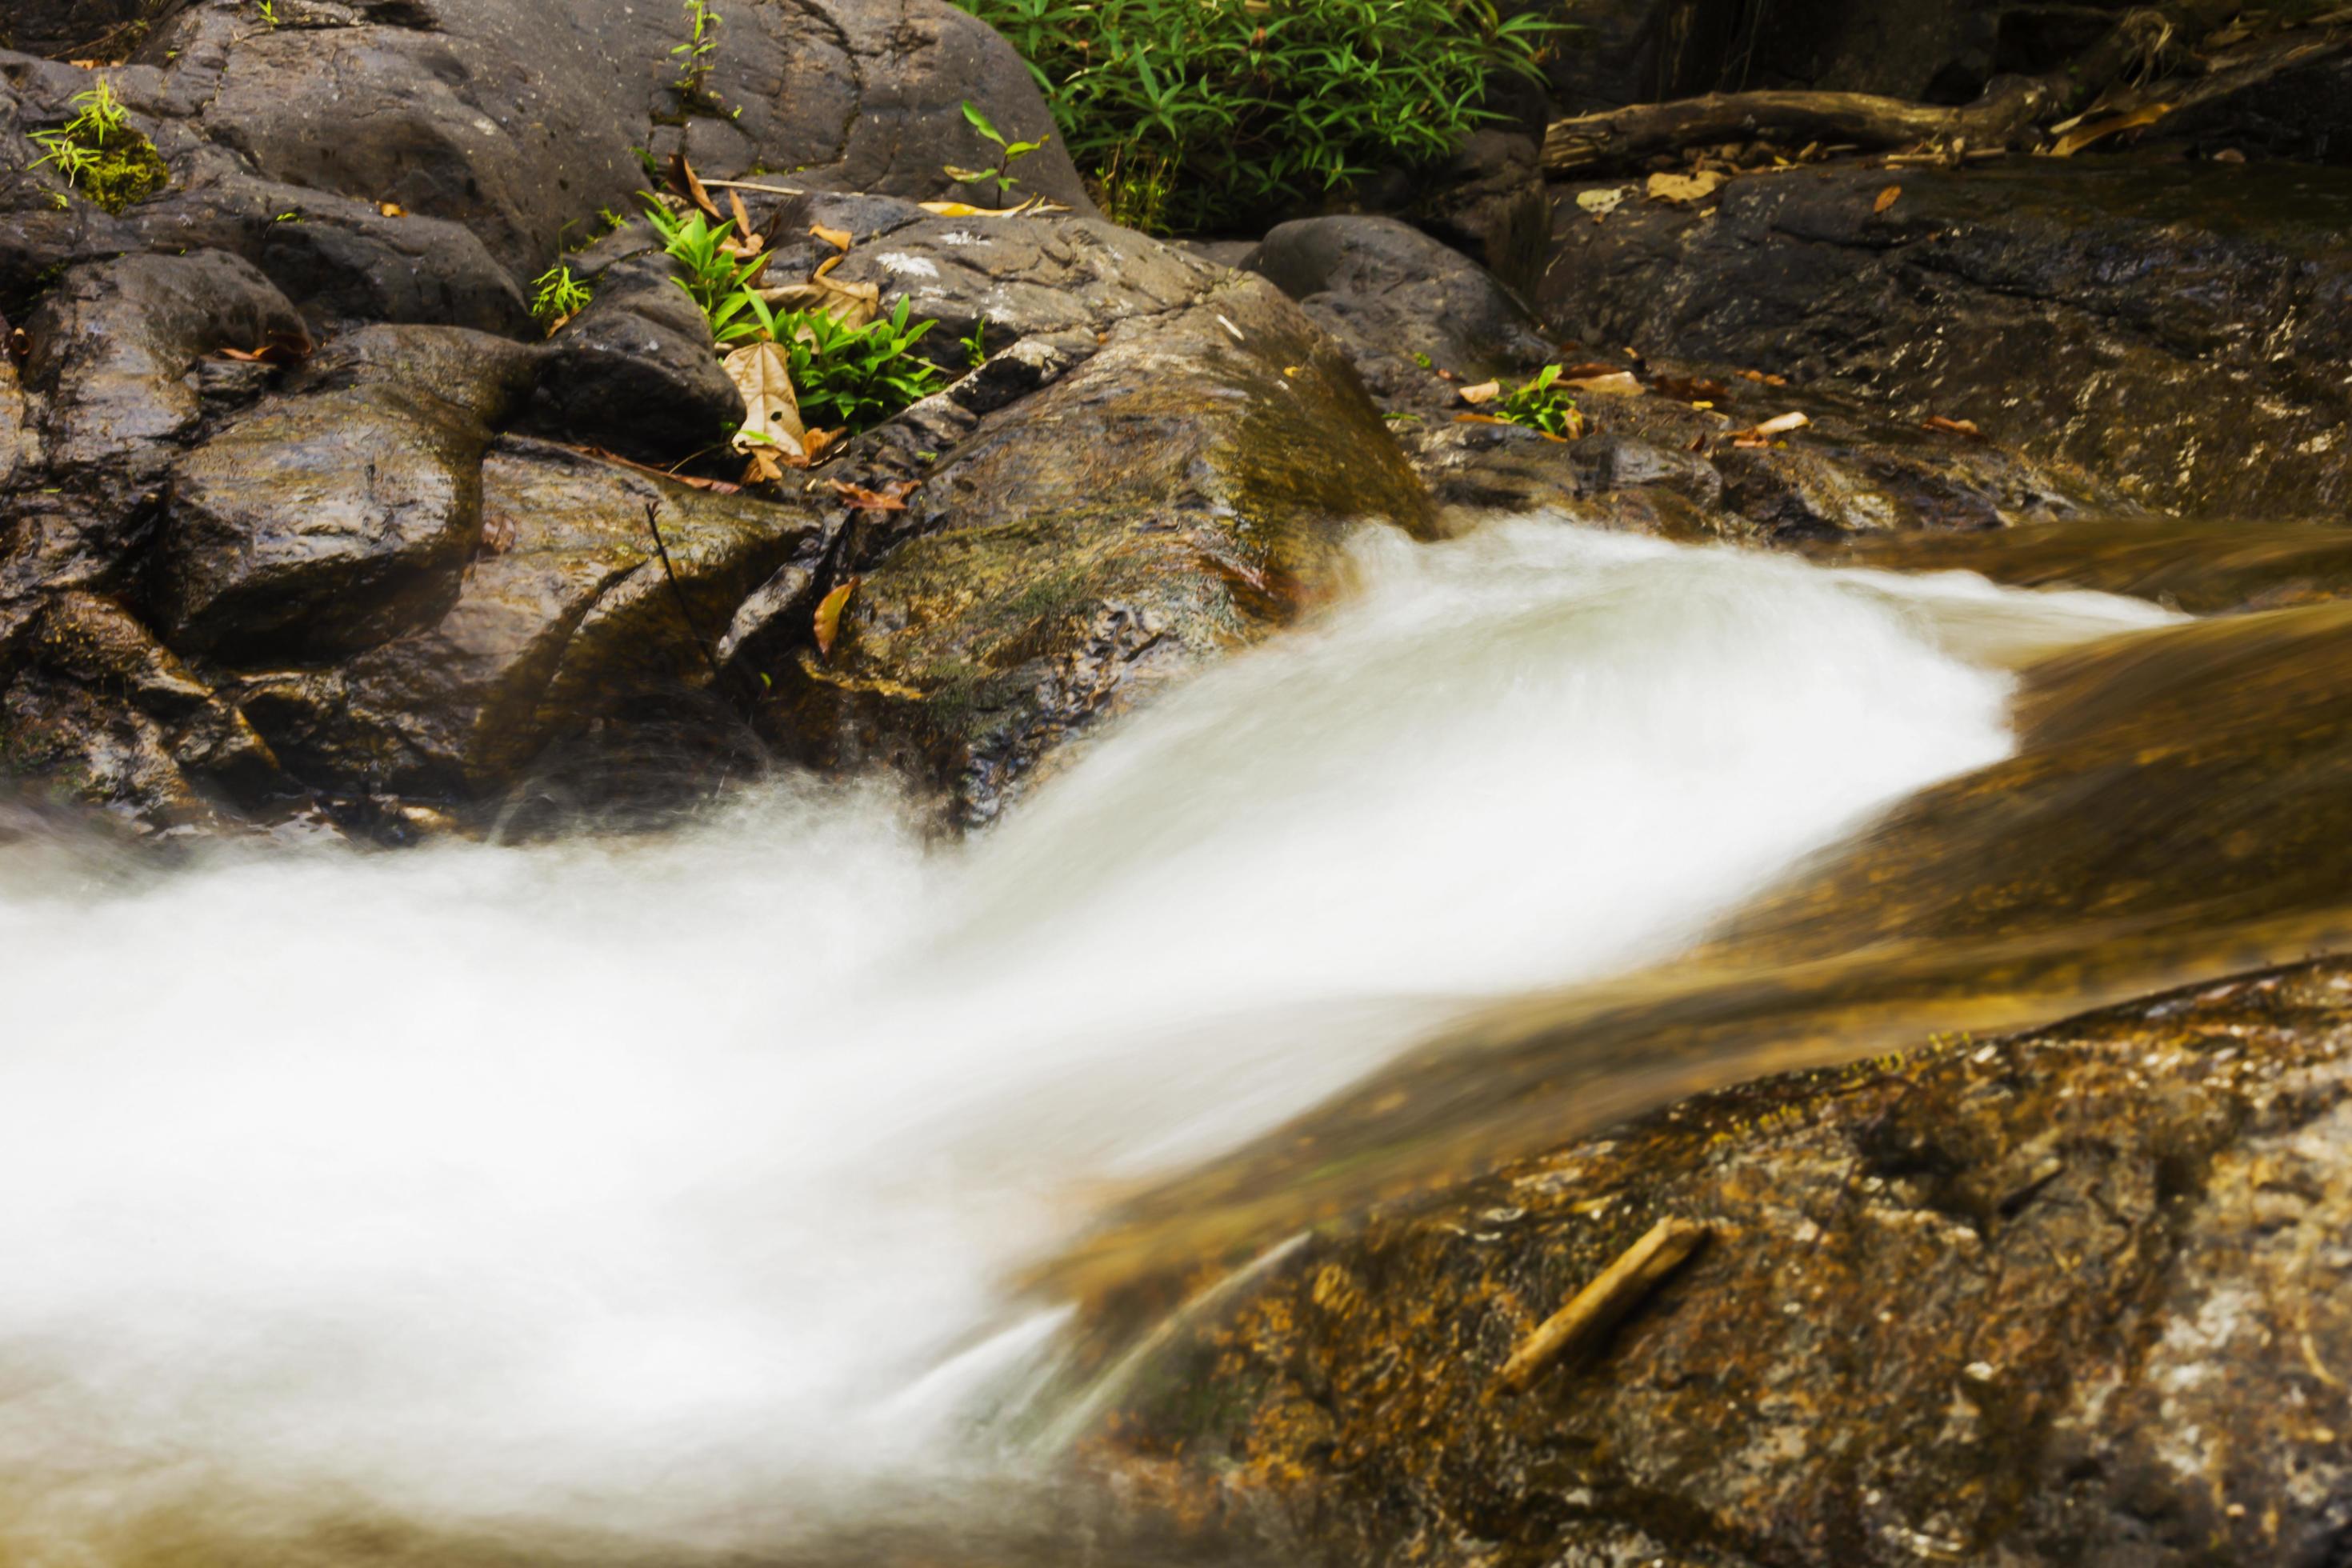
<path id="1" fill-rule="evenodd" d="M 1009 1279 L 1449 1018 L 1691 940 L 2161 618 L 1543 520 L 967 846 L 880 790 L 661 839 L 0 853 L 0 1561 L 151 1509 L 771 1540 L 1014 1465 Z M 242 1526 L 240 1526 L 242 1528 Z"/>

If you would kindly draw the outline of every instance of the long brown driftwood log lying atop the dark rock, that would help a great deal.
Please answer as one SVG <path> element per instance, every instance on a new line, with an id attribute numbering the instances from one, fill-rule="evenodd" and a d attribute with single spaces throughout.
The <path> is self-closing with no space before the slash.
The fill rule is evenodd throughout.
<path id="1" fill-rule="evenodd" d="M 1726 141 L 2023 150 L 2039 146 L 2053 120 L 2084 108 L 2093 115 L 2131 115 L 2143 108 L 2173 113 L 2225 99 L 2281 71 L 2352 49 L 2352 28 L 2284 31 L 2157 75 L 2154 61 L 2171 40 L 2173 24 L 2164 14 L 2129 12 L 2070 71 L 1994 78 L 1985 96 L 1959 108 L 1867 92 L 1717 92 L 1576 115 L 1555 120 L 1545 132 L 1543 169 L 1555 176 L 1588 174 Z M 2124 87 L 2126 78 L 2145 80 Z"/>

